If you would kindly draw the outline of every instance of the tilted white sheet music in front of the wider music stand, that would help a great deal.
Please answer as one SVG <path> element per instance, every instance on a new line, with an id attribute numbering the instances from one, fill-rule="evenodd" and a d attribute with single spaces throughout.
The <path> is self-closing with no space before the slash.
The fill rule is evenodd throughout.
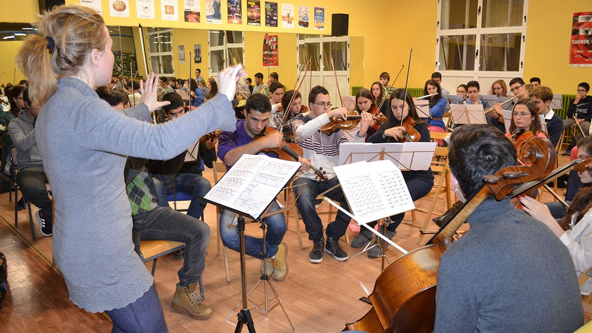
<path id="1" fill-rule="evenodd" d="M 401 170 L 391 161 L 361 161 L 333 169 L 358 225 L 415 208 Z"/>

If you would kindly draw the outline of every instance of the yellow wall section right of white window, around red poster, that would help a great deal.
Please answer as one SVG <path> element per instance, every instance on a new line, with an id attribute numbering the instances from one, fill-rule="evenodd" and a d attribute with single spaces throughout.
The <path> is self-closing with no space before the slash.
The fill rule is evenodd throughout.
<path id="1" fill-rule="evenodd" d="M 578 83 L 592 83 L 592 67 L 569 67 L 574 12 L 592 11 L 589 1 L 529 1 L 524 78 L 538 76 L 556 94 L 575 94 Z"/>

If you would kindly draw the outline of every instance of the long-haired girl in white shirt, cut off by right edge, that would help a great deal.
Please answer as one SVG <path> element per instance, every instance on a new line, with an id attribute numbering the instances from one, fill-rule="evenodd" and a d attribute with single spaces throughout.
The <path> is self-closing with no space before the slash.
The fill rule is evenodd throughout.
<path id="1" fill-rule="evenodd" d="M 592 155 L 592 139 L 581 140 L 578 151 L 584 156 Z M 578 170 L 578 176 L 584 184 L 592 184 L 592 163 L 585 165 L 585 171 Z M 578 275 L 592 265 L 592 187 L 585 186 L 578 191 L 559 222 L 545 204 L 526 196 L 520 197 L 520 202 L 522 210 L 543 222 L 567 246 Z M 590 294 L 592 281 L 588 280 L 580 290 L 582 294 Z"/>

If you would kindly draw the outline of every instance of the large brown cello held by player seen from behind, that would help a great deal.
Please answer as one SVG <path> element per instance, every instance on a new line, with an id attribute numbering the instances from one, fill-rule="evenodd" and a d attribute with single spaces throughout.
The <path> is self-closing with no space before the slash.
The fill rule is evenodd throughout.
<path id="1" fill-rule="evenodd" d="M 502 200 L 516 184 L 545 177 L 556 161 L 554 147 L 538 137 L 525 143 L 522 156 L 530 167 L 511 166 L 485 175 L 481 190 L 426 245 L 397 258 L 382 271 L 369 295 L 372 309 L 358 321 L 346 324 L 346 328 L 371 333 L 432 332 L 440 256 L 452 244 L 456 230 L 488 196 Z"/>

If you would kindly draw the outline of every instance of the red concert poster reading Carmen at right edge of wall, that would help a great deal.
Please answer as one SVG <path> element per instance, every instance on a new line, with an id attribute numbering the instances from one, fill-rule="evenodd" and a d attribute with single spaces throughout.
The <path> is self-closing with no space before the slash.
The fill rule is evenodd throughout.
<path id="1" fill-rule="evenodd" d="M 592 67 L 592 11 L 574 12 L 571 25 L 570 67 Z"/>

